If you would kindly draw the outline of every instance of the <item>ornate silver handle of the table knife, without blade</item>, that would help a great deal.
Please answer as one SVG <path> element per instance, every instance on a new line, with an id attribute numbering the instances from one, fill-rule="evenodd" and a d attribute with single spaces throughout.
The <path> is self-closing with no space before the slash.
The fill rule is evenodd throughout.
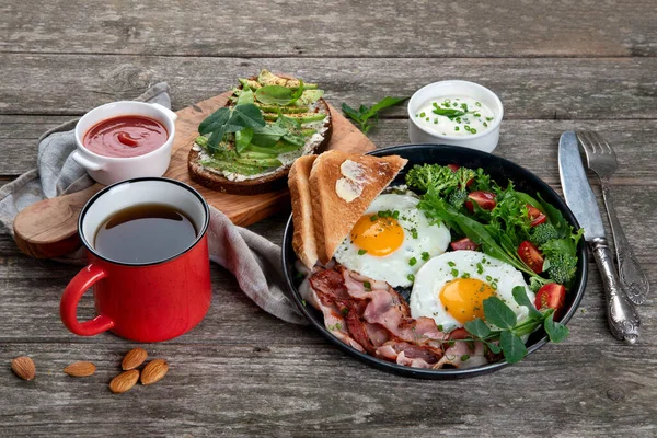
<path id="1" fill-rule="evenodd" d="M 590 243 L 604 285 L 607 320 L 611 334 L 618 339 L 634 344 L 638 338 L 641 322 L 634 306 L 621 289 L 611 250 L 607 245 L 606 239 L 593 239 Z"/>

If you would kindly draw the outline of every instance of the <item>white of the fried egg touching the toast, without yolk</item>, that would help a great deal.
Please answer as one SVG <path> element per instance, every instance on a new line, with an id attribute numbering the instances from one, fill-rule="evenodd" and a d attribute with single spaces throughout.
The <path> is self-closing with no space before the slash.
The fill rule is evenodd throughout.
<path id="1" fill-rule="evenodd" d="M 442 254 L 451 240 L 449 230 L 443 224 L 429 223 L 417 209 L 417 203 L 419 199 L 411 195 L 379 195 L 366 210 L 366 215 L 382 210 L 399 211 L 397 222 L 404 230 L 402 245 L 382 257 L 367 253 L 359 255 L 360 249 L 349 234 L 335 252 L 335 260 L 351 270 L 393 287 L 411 286 L 413 281 L 410 276 L 414 276 L 427 263 L 422 257 L 423 253 L 428 253 L 429 258 Z M 416 230 L 417 238 L 413 237 L 413 229 Z M 416 261 L 413 266 L 408 263 L 411 258 Z"/>

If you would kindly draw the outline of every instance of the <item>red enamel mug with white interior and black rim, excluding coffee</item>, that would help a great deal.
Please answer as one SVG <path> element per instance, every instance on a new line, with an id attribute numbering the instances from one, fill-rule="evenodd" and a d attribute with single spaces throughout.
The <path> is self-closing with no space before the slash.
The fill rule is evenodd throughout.
<path id="1" fill-rule="evenodd" d="M 188 246 L 165 260 L 111 260 L 94 245 L 97 230 L 116 212 L 160 204 L 182 211 L 196 230 Z M 143 177 L 111 185 L 82 208 L 78 233 L 87 265 L 66 287 L 59 312 L 64 325 L 80 336 L 112 331 L 138 342 L 180 336 L 206 315 L 212 299 L 207 229 L 209 208 L 198 192 L 178 181 Z M 78 303 L 93 289 L 97 316 L 78 321 Z"/>

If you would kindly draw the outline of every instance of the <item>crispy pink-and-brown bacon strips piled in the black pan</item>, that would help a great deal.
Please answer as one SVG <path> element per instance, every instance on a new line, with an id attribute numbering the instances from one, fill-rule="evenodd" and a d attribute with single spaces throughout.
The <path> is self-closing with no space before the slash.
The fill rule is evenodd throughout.
<path id="1" fill-rule="evenodd" d="M 450 346 L 450 358 L 446 358 L 443 343 L 448 335 L 430 318 L 411 318 L 406 301 L 383 281 L 335 266 L 315 269 L 309 277 L 309 289 L 314 299 L 308 301 L 324 313 L 326 327 L 360 351 L 416 368 L 479 365 L 483 358 L 482 345 L 481 355 L 476 347 L 466 360 L 461 360 L 466 354 L 458 355 L 463 347 L 457 345 L 468 348 L 472 344 L 465 342 Z"/>

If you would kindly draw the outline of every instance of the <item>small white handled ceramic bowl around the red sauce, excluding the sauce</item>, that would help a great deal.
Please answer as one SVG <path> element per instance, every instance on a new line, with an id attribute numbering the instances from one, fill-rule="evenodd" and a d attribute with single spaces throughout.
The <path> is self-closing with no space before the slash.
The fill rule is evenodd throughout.
<path id="1" fill-rule="evenodd" d="M 131 115 L 160 122 L 169 134 L 164 145 L 143 155 L 104 157 L 90 151 L 82 143 L 87 131 L 97 123 L 107 118 Z M 73 152 L 73 160 L 87 169 L 89 176 L 105 185 L 142 176 L 162 176 L 171 161 L 176 118 L 174 112 L 157 103 L 120 101 L 101 105 L 78 122 L 76 126 L 78 149 Z"/>

